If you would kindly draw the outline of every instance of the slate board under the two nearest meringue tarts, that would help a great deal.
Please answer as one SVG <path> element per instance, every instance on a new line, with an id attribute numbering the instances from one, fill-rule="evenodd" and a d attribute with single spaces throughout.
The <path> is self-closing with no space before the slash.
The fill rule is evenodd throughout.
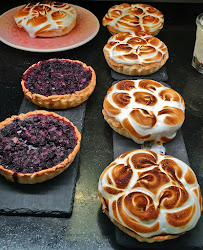
<path id="1" fill-rule="evenodd" d="M 114 82 L 114 84 L 115 83 L 116 82 Z M 164 82 L 161 83 L 166 87 L 170 87 L 168 84 Z M 185 148 L 185 143 L 181 129 L 177 131 L 176 137 L 170 142 L 164 144 L 164 146 L 166 150 L 165 152 L 166 155 L 172 155 L 189 165 L 188 155 Z M 113 131 L 114 159 L 125 152 L 140 148 L 141 145 Z M 203 232 L 203 217 L 200 218 L 198 224 L 194 229 L 192 229 L 189 232 L 186 232 L 184 235 L 178 237 L 177 239 L 168 240 L 166 242 L 151 243 L 151 244 L 139 242 L 136 239 L 124 233 L 123 231 L 121 231 L 118 227 L 115 227 L 116 242 L 120 246 L 126 248 L 139 249 L 139 250 L 142 249 L 190 250 L 194 249 L 195 247 L 196 247 L 195 249 L 202 249 L 203 247 L 202 232 Z"/>

